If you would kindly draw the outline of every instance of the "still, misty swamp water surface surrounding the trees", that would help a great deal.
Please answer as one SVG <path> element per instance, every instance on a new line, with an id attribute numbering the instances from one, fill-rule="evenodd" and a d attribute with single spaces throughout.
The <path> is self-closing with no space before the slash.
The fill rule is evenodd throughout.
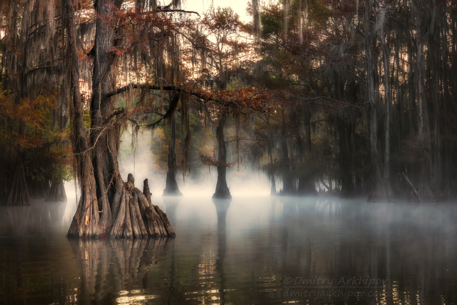
<path id="1" fill-rule="evenodd" d="M 174 239 L 68 240 L 74 202 L 0 207 L 0 304 L 457 302 L 456 204 L 154 203 Z"/>

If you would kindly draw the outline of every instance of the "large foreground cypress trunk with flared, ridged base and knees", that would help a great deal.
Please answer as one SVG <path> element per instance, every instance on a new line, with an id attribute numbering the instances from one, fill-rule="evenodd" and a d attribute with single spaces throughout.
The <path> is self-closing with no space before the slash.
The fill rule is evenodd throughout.
<path id="1" fill-rule="evenodd" d="M 115 3 L 119 6 L 122 1 Z M 87 137 L 83 101 L 80 96 L 73 1 L 63 2 L 63 18 L 68 32 L 66 70 L 72 122 L 70 139 L 81 187 L 80 201 L 67 236 L 173 236 L 175 233 L 166 214 L 152 205 L 150 199 L 147 200 L 147 197 L 134 187 L 133 176 L 129 174 L 128 182 L 125 183 L 119 174 L 117 158 L 120 123 L 115 117 L 122 115 L 123 112 L 115 112 L 113 101 L 106 95 L 114 86 L 111 65 L 116 56 L 112 54 L 111 49 L 117 40 L 109 20 L 115 8 L 112 2 L 107 0 L 96 0 L 95 8 L 97 17 L 92 74 L 93 95 L 90 102 L 91 127 Z"/>

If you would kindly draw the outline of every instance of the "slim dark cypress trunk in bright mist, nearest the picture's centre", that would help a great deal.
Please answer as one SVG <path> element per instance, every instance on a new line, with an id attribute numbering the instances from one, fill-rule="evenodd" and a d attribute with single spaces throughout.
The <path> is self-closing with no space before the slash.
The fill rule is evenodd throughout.
<path id="1" fill-rule="evenodd" d="M 224 139 L 224 125 L 226 117 L 225 114 L 219 118 L 219 124 L 216 128 L 216 138 L 218 140 L 218 182 L 216 184 L 216 192 L 213 194 L 213 198 L 228 199 L 232 198 L 230 191 L 227 186 L 226 172 L 227 172 L 227 145 Z"/>

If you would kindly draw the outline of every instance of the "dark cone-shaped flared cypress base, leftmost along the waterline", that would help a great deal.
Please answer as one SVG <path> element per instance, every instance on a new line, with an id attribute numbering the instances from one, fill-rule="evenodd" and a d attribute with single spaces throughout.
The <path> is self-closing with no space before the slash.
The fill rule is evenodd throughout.
<path id="1" fill-rule="evenodd" d="M 29 194 L 25 176 L 24 153 L 19 153 L 16 171 L 13 181 L 11 182 L 10 191 L 5 201 L 6 205 L 27 205 L 29 202 Z"/>

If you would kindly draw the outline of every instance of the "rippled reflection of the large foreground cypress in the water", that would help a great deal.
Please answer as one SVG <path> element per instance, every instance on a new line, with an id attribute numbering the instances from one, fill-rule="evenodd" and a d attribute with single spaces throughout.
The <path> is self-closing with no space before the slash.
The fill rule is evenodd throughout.
<path id="1" fill-rule="evenodd" d="M 158 297 L 147 278 L 173 243 L 170 238 L 69 241 L 81 269 L 82 304 L 128 303 Z M 157 283 L 157 282 L 156 282 Z"/>

